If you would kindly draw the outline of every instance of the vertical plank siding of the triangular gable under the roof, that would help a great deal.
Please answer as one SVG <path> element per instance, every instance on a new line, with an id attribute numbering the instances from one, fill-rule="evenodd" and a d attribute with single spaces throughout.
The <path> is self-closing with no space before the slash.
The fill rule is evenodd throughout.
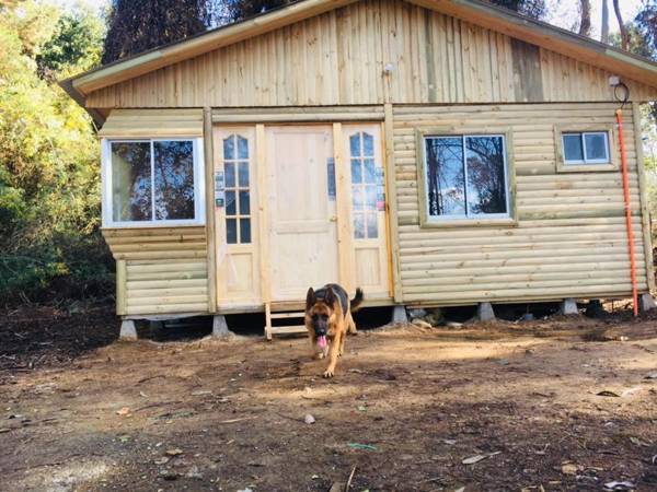
<path id="1" fill-rule="evenodd" d="M 382 104 L 387 85 L 393 103 L 606 102 L 609 75 L 403 0 L 362 0 L 99 90 L 87 106 Z M 634 101 L 657 98 L 625 82 Z"/>

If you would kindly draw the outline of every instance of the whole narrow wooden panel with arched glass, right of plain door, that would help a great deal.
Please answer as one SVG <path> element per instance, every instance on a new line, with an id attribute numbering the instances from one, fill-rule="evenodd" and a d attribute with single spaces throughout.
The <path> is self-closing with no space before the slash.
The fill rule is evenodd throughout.
<path id="1" fill-rule="evenodd" d="M 385 216 L 385 179 L 379 125 L 344 125 L 349 168 L 354 285 L 366 298 L 389 298 L 390 262 Z"/>

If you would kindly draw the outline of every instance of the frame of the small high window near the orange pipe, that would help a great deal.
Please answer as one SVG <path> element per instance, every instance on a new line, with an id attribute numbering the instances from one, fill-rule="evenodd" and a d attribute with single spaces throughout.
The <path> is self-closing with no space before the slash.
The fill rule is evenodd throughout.
<path id="1" fill-rule="evenodd" d="M 586 157 L 586 134 L 604 133 L 607 143 L 606 160 L 589 160 Z M 581 134 L 583 160 L 566 161 L 564 136 Z M 616 152 L 615 126 L 612 124 L 597 125 L 555 125 L 554 126 L 554 147 L 557 173 L 599 173 L 613 172 L 620 169 Z"/>

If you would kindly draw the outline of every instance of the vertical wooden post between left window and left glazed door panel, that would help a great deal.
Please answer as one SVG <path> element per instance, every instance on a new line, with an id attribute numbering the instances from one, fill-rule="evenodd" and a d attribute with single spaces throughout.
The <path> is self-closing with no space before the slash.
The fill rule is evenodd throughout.
<path id="1" fill-rule="evenodd" d="M 208 272 L 208 311 L 217 311 L 217 243 L 215 237 L 215 149 L 212 134 L 212 110 L 204 108 L 204 156 L 205 156 L 205 190 L 206 190 L 206 242 Z"/>

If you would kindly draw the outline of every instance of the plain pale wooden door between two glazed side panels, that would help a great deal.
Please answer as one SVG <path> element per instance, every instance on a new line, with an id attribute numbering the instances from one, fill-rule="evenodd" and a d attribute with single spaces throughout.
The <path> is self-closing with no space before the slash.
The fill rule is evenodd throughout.
<path id="1" fill-rule="evenodd" d="M 332 128 L 267 127 L 270 300 L 338 281 Z"/>

